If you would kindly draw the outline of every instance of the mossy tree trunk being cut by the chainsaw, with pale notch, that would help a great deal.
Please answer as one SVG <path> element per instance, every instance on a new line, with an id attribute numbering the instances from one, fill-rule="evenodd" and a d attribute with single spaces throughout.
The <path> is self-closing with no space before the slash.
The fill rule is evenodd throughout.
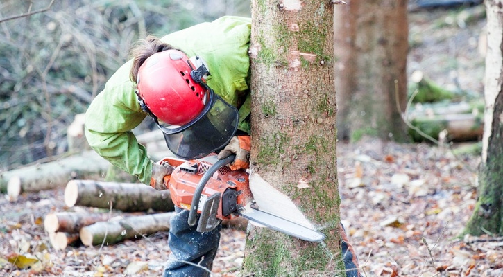
<path id="1" fill-rule="evenodd" d="M 252 2 L 250 188 L 261 210 L 312 226 L 326 238 L 305 242 L 251 228 L 241 274 L 344 276 L 333 6 L 330 1 Z"/>

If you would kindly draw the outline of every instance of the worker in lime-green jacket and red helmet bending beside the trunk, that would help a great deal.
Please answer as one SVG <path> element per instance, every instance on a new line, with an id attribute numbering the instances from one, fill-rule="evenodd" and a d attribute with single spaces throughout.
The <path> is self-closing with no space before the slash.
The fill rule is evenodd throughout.
<path id="1" fill-rule="evenodd" d="M 89 145 L 144 184 L 165 190 L 173 167 L 154 162 L 130 132 L 146 115 L 155 120 L 168 148 L 182 159 L 235 154 L 232 170 L 248 168 L 250 151 L 251 21 L 221 17 L 161 39 L 149 36 L 133 50 L 85 114 Z M 199 233 L 189 211 L 171 217 L 171 254 L 164 276 L 209 276 L 221 224 Z M 346 235 L 343 235 L 346 238 Z M 359 276 L 352 247 L 342 241 L 347 276 Z M 204 267 L 204 268 L 203 268 Z"/>

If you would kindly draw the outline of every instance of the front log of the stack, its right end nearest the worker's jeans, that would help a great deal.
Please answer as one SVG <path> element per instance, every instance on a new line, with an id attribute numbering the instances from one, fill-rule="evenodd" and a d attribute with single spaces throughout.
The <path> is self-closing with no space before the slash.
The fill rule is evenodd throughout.
<path id="1" fill-rule="evenodd" d="M 115 244 L 123 240 L 142 238 L 159 231 L 169 231 L 171 213 L 157 213 L 153 215 L 138 215 L 124 217 L 121 220 L 96 222 L 80 229 L 80 241 L 85 246 Z"/>

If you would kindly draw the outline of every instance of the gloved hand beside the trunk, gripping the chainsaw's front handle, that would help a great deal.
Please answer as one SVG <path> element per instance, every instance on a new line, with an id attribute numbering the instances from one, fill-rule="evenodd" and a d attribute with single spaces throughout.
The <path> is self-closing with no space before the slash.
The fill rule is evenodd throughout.
<path id="1" fill-rule="evenodd" d="M 229 144 L 219 153 L 219 159 L 229 157 L 231 154 L 236 154 L 236 158 L 229 166 L 230 169 L 248 168 L 250 166 L 250 136 L 233 136 Z"/>

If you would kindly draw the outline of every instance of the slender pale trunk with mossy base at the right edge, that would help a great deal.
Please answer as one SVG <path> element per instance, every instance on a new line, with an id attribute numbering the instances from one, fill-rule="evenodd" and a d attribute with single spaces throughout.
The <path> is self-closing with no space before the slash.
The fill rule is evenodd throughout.
<path id="1" fill-rule="evenodd" d="M 463 233 L 503 235 L 503 1 L 486 0 L 488 53 L 478 199 Z"/>

